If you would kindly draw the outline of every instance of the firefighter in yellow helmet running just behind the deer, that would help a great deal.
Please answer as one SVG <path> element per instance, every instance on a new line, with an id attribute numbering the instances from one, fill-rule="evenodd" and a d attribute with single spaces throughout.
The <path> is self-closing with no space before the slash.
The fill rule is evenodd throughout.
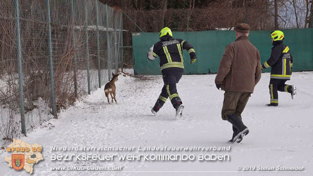
<path id="1" fill-rule="evenodd" d="M 179 98 L 176 84 L 179 82 L 184 71 L 182 50 L 186 49 L 188 51 L 191 64 L 197 60 L 196 52 L 188 42 L 181 39 L 174 39 L 172 31 L 168 27 L 164 27 L 160 31 L 159 38 L 160 41 L 150 48 L 148 59 L 155 60 L 156 57 L 160 58 L 159 65 L 161 67 L 164 86 L 151 112 L 156 114 L 169 98 L 176 110 L 176 117 L 181 117 L 184 106 Z"/>

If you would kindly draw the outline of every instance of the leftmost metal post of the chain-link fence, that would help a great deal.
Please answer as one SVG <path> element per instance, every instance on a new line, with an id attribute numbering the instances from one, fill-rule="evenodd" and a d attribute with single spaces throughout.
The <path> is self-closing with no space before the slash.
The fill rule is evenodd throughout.
<path id="1" fill-rule="evenodd" d="M 26 135 L 25 112 L 24 112 L 24 93 L 23 93 L 23 72 L 22 72 L 22 52 L 21 52 L 21 35 L 20 35 L 19 0 L 15 0 L 15 18 L 16 18 L 16 40 L 17 40 L 18 68 L 19 68 L 21 129 L 22 129 L 22 133 Z"/>

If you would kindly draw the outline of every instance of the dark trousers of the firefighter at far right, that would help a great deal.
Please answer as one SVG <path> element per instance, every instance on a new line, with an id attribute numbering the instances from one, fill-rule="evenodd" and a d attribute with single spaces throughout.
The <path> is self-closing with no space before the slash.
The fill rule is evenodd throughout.
<path id="1" fill-rule="evenodd" d="M 283 79 L 270 79 L 269 81 L 269 94 L 270 94 L 270 103 L 278 103 L 278 92 L 277 91 L 282 91 L 282 92 L 288 92 L 291 93 L 290 91 L 290 86 L 291 85 L 286 85 L 287 80 Z"/>

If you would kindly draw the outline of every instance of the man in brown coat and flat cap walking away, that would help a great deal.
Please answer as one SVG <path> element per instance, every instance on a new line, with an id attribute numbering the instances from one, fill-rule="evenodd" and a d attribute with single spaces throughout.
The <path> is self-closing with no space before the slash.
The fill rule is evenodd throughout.
<path id="1" fill-rule="evenodd" d="M 237 24 L 235 31 L 237 39 L 224 50 L 215 84 L 218 89 L 225 91 L 222 119 L 233 126 L 233 136 L 229 142 L 239 143 L 249 133 L 241 113 L 261 78 L 261 63 L 258 49 L 248 40 L 250 26 Z"/>

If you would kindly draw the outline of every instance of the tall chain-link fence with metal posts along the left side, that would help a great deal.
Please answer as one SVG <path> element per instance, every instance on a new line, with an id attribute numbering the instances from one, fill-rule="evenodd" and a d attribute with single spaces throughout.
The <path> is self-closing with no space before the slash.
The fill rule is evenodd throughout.
<path id="1" fill-rule="evenodd" d="M 97 0 L 2 0 L 0 146 L 109 81 L 122 32 L 121 10 Z"/>

